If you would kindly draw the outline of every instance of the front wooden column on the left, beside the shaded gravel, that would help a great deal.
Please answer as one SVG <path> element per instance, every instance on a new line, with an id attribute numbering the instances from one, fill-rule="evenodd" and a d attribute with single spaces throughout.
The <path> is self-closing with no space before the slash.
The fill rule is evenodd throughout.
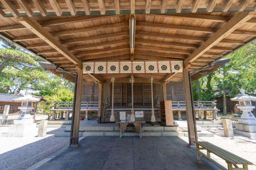
<path id="1" fill-rule="evenodd" d="M 75 105 L 75 113 L 74 115 L 74 126 L 73 126 L 73 137 L 72 137 L 72 145 L 78 145 L 79 139 L 79 127 L 80 127 L 80 111 L 81 111 L 81 100 L 82 100 L 82 85 L 83 85 L 83 70 L 78 69 L 77 72 L 77 83 L 76 83 L 76 105 Z M 73 113 L 72 113 L 73 114 Z"/>

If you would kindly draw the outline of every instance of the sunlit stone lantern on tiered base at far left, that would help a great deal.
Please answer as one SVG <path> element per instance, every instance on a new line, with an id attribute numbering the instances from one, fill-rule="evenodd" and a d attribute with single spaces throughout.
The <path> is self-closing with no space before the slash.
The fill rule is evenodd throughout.
<path id="1" fill-rule="evenodd" d="M 40 99 L 26 95 L 24 97 L 18 97 L 14 101 L 21 101 L 20 116 L 14 120 L 13 125 L 9 125 L 9 131 L 2 133 L 2 137 L 34 137 L 37 136 L 36 123 L 34 123 L 33 117 L 30 115 L 34 109 L 33 103 L 40 101 Z"/>

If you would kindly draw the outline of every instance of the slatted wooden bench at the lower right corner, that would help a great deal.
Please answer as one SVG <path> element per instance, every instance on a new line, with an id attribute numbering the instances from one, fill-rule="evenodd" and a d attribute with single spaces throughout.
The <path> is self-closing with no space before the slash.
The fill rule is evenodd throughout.
<path id="1" fill-rule="evenodd" d="M 200 150 L 207 150 L 207 155 L 205 156 L 210 161 L 218 164 L 214 160 L 210 158 L 210 153 L 217 155 L 218 157 L 224 159 L 227 162 L 228 170 L 248 170 L 248 165 L 253 165 L 252 162 L 249 162 L 227 150 L 223 150 L 222 148 L 211 144 L 210 142 L 195 142 L 197 145 L 197 159 L 200 160 Z M 201 147 L 200 147 L 201 146 Z M 237 165 L 243 165 L 243 168 L 239 168 Z M 221 166 L 218 164 L 218 166 Z M 233 168 L 235 166 L 235 168 Z M 221 166 L 222 167 L 222 166 Z"/>

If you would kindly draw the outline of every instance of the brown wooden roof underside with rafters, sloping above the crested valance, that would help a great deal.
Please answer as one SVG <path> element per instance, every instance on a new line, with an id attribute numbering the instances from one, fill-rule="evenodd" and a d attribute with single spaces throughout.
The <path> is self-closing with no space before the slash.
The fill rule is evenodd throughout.
<path id="1" fill-rule="evenodd" d="M 183 60 L 184 67 L 193 71 L 209 67 L 256 36 L 255 12 L 136 14 L 135 49 L 131 53 L 130 17 L 9 17 L 0 20 L 0 34 L 68 71 L 81 68 L 83 61 L 132 60 Z M 182 79 L 182 73 L 152 75 L 159 82 Z M 115 76 L 124 81 L 130 77 Z M 134 74 L 140 80 L 150 76 Z M 110 78 L 84 74 L 87 82 Z"/>

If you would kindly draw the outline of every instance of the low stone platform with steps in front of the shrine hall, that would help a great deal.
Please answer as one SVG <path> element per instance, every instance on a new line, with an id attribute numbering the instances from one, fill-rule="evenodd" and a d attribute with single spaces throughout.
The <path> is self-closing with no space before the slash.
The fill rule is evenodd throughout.
<path id="1" fill-rule="evenodd" d="M 188 127 L 186 121 L 177 121 L 179 126 L 153 126 L 151 123 L 145 123 L 142 127 L 142 136 L 188 136 Z M 71 125 L 61 125 L 63 132 L 55 134 L 55 137 L 69 137 Z M 198 137 L 214 137 L 214 134 L 202 130 L 197 126 Z M 98 124 L 96 120 L 84 121 L 80 123 L 80 136 L 120 136 L 120 128 L 115 123 Z M 138 136 L 134 127 L 127 127 L 123 136 Z"/>

